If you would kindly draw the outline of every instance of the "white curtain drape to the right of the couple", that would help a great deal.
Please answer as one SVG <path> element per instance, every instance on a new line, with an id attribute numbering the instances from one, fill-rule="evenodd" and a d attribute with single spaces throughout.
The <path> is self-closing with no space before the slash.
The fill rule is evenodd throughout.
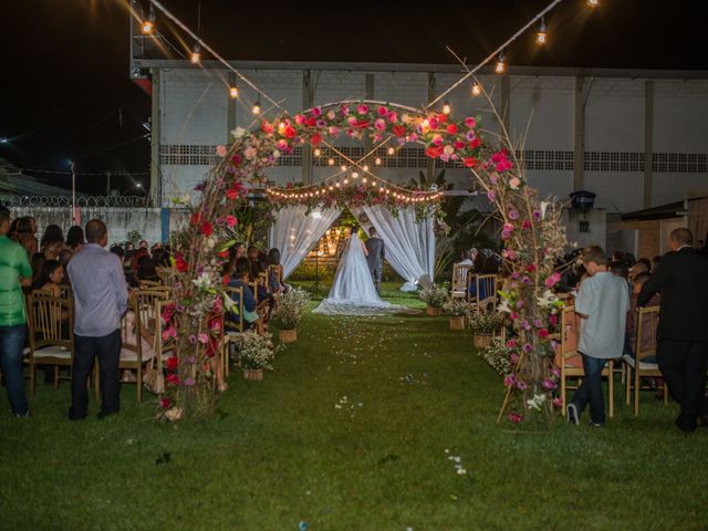
<path id="1" fill-rule="evenodd" d="M 386 260 L 406 283 L 400 291 L 415 291 L 418 283 L 434 281 L 435 220 L 416 220 L 414 207 L 398 210 L 394 217 L 386 207 L 375 205 L 356 209 L 364 211 L 386 246 Z"/>

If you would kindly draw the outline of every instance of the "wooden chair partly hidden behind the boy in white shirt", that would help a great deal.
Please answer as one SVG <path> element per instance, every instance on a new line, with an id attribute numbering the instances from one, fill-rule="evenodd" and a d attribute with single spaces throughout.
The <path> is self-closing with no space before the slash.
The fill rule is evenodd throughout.
<path id="1" fill-rule="evenodd" d="M 565 305 L 561 312 L 560 352 L 558 352 L 555 356 L 555 364 L 559 365 L 561 369 L 561 400 L 563 403 L 563 413 L 568 404 L 568 389 L 577 388 L 577 386 L 569 386 L 568 378 L 582 379 L 582 377 L 585 376 L 583 358 L 577 352 L 579 341 L 580 315 L 575 313 L 574 305 Z M 607 409 L 610 417 L 615 416 L 613 368 L 614 360 L 607 360 L 607 365 L 602 369 L 602 375 L 607 377 Z"/>

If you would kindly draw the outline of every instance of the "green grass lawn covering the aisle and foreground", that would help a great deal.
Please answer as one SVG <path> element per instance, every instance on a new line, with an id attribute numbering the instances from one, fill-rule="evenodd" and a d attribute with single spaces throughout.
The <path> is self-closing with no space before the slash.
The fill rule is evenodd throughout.
<path id="1" fill-rule="evenodd" d="M 18 420 L 3 389 L 0 529 L 708 528 L 708 429 L 680 434 L 675 404 L 645 394 L 634 418 L 618 385 L 602 429 L 514 433 L 494 424 L 500 378 L 444 317 L 309 314 L 299 336 L 263 382 L 232 372 L 200 425 L 152 421 L 134 386 L 121 415 L 92 403 L 70 423 L 66 384 L 38 385 Z"/>

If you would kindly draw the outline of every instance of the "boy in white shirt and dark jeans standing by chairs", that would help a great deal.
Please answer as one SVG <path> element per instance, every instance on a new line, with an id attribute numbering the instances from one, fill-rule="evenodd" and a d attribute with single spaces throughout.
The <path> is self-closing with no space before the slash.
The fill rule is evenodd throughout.
<path id="1" fill-rule="evenodd" d="M 583 250 L 583 264 L 590 275 L 577 293 L 575 312 L 581 316 L 579 353 L 585 377 L 566 407 L 568 420 L 580 424 L 580 415 L 590 404 L 593 426 L 605 424 L 602 369 L 607 360 L 622 357 L 629 295 L 624 279 L 607 271 L 607 258 L 601 247 Z"/>

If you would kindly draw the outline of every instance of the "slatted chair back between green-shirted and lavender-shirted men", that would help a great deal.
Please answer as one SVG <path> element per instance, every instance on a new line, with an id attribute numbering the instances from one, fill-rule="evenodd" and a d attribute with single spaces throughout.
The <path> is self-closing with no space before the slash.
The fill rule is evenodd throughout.
<path id="1" fill-rule="evenodd" d="M 54 296 L 41 290 L 28 295 L 28 326 L 32 351 L 49 345 L 74 350 L 73 299 Z M 62 314 L 67 315 L 62 326 Z"/>

